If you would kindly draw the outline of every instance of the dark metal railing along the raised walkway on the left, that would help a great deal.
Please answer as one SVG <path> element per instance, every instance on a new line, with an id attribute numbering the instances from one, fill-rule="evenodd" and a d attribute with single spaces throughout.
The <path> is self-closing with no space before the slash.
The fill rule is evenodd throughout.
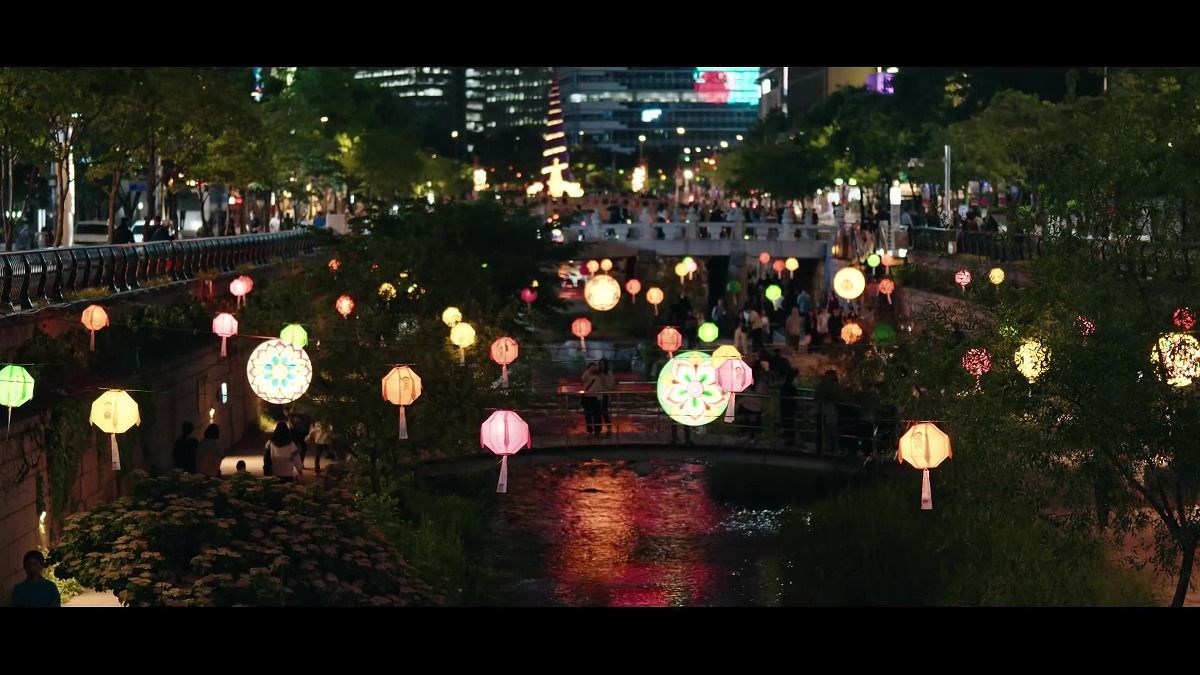
<path id="1" fill-rule="evenodd" d="M 316 243 L 312 233 L 290 231 L 5 252 L 0 253 L 0 312 L 30 310 L 41 300 L 61 303 L 66 293 L 89 288 L 120 293 L 150 282 L 186 281 L 203 273 L 233 271 L 242 264 L 266 264 L 312 251 Z"/>

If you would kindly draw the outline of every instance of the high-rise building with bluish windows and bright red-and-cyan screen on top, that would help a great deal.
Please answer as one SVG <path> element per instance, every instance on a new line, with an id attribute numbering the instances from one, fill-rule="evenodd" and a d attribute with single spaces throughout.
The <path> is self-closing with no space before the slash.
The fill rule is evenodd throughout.
<path id="1" fill-rule="evenodd" d="M 736 144 L 758 119 L 757 67 L 564 67 L 558 76 L 572 143 L 628 154 L 708 149 Z"/>

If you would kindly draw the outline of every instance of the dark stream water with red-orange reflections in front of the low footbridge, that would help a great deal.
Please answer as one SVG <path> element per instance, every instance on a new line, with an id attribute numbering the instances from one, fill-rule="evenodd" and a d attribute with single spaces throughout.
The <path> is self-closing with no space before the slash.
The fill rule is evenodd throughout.
<path id="1" fill-rule="evenodd" d="M 494 565 L 514 578 L 505 604 L 775 604 L 782 512 L 718 504 L 707 470 L 600 460 L 523 470 L 496 514 Z"/>

